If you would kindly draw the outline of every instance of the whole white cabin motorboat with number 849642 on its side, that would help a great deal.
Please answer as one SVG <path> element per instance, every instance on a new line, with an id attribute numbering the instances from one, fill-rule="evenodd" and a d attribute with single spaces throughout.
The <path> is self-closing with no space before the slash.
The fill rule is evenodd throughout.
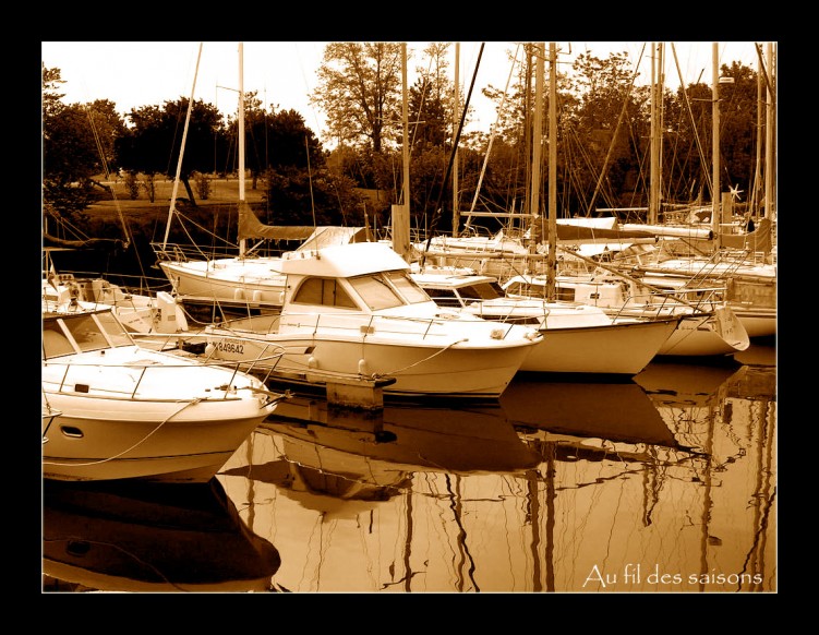
<path id="1" fill-rule="evenodd" d="M 284 254 L 281 313 L 205 328 L 213 359 L 301 385 L 386 378 L 385 397 L 497 398 L 542 336 L 442 311 L 388 244 Z"/>

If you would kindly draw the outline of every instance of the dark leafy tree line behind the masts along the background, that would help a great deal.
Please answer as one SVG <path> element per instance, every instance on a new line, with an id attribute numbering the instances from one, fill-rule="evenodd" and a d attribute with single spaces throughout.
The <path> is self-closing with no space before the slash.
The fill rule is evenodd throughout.
<path id="1" fill-rule="evenodd" d="M 441 223 L 435 230 L 453 232 L 451 207 L 457 205 L 463 218 L 473 201 L 480 212 L 529 212 L 535 47 L 523 46 L 505 99 L 499 88 L 481 87 L 505 108 L 491 133 L 459 136 L 458 196 L 453 203 L 454 180 L 445 175 L 461 115 L 456 104 L 463 108 L 466 95 L 461 87 L 456 96 L 449 77 L 451 46 L 431 43 L 410 55 L 410 60 L 420 57 L 407 95 L 409 203 L 411 225 L 421 231 L 430 229 L 431 219 L 437 217 Z M 398 43 L 330 43 L 325 48 L 311 101 L 326 115 L 332 149 L 324 147 L 301 113 L 265 105 L 257 93 L 246 93 L 245 169 L 251 187 L 264 190 L 265 208 L 258 211 L 264 223 L 363 225 L 366 215 L 376 227 L 388 225 L 390 205 L 401 201 L 404 191 L 402 55 Z M 626 52 L 605 59 L 586 52 L 570 72 L 557 71 L 556 173 L 562 217 L 594 216 L 599 207 L 648 205 L 651 87 L 635 85 L 631 67 Z M 723 64 L 720 71 L 733 79 L 733 83 L 721 83 L 719 92 L 722 189 L 730 187 L 747 196 L 759 187 L 755 159 L 763 108 L 761 79 L 739 62 Z M 64 104 L 62 83 L 60 69 L 44 64 L 44 213 L 82 226 L 88 206 L 110 196 L 100 175 L 122 173 L 134 184 L 133 196 L 148 199 L 156 178 L 174 177 L 186 97 L 134 108 L 123 117 L 107 99 Z M 543 99 L 542 111 L 547 112 L 549 95 Z M 661 104 L 662 201 L 710 201 L 712 86 L 695 82 L 676 91 L 666 88 Z M 547 130 L 543 118 L 544 143 L 549 143 Z M 236 173 L 237 139 L 236 112 L 224 113 L 212 104 L 194 100 L 180 171 L 191 205 L 207 197 L 208 179 Z M 544 177 L 538 185 L 543 193 L 547 170 L 541 173 Z M 540 201 L 545 205 L 546 197 L 541 195 Z M 543 214 L 543 209 L 538 212 Z M 645 219 L 645 214 L 637 216 L 622 219 Z M 492 229 L 492 219 L 477 224 L 481 223 Z M 455 230 L 461 229 L 462 221 Z"/>

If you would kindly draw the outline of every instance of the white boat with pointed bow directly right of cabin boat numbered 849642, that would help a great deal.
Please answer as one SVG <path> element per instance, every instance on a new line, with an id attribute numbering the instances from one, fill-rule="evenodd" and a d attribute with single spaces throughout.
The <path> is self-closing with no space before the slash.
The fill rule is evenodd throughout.
<path id="1" fill-rule="evenodd" d="M 538 328 L 543 339 L 523 360 L 521 371 L 634 375 L 658 354 L 681 320 L 678 315 L 614 319 L 578 302 L 506 297 L 491 276 L 418 273 L 412 277 L 442 307 Z"/>

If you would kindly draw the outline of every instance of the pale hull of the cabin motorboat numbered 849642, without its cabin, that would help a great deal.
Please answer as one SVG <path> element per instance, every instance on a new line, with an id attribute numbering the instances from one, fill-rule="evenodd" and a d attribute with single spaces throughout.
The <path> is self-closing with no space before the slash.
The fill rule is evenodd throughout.
<path id="1" fill-rule="evenodd" d="M 539 339 L 533 331 L 482 320 L 314 314 L 254 317 L 205 331 L 213 358 L 255 374 L 297 384 L 394 379 L 384 395 L 408 398 L 495 399 Z"/>

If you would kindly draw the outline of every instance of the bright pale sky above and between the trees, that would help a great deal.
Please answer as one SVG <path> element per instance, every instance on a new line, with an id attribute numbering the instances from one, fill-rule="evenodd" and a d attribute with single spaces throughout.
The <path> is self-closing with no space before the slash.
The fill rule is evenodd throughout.
<path id="1" fill-rule="evenodd" d="M 196 59 L 202 56 L 196 71 Z M 256 91 L 264 104 L 277 109 L 294 109 L 316 135 L 327 142 L 323 133 L 324 117 L 310 104 L 309 95 L 317 85 L 315 71 L 322 63 L 326 41 L 245 41 L 243 43 L 244 91 Z M 420 63 L 427 43 L 408 43 L 410 58 L 408 84 L 413 83 L 413 70 Z M 474 73 L 480 44 L 461 41 L 459 80 L 463 94 Z M 672 55 L 672 43 L 665 47 L 666 87 L 679 84 Z M 558 62 L 569 65 L 575 58 L 590 51 L 605 59 L 611 52 L 625 51 L 633 68 L 640 71 L 638 83 L 650 83 L 648 51 L 651 41 L 564 41 L 556 43 Z M 686 83 L 712 81 L 712 41 L 673 43 Z M 480 88 L 492 84 L 503 89 L 507 85 L 511 62 L 507 52 L 517 48 L 514 41 L 485 43 L 475 77 L 470 105 L 474 116 L 469 130 L 489 131 L 494 123 L 496 105 L 481 95 Z M 643 50 L 645 47 L 645 50 Z M 762 47 L 764 51 L 764 46 Z M 194 77 L 194 98 L 214 104 L 222 112 L 233 111 L 239 88 L 239 56 L 236 41 L 43 41 L 41 59 L 46 68 L 60 69 L 64 84 L 65 104 L 110 99 L 121 113 L 142 106 L 161 105 L 166 100 L 190 97 Z M 455 47 L 450 47 L 450 71 L 455 65 Z M 719 63 L 740 61 L 757 68 L 752 41 L 721 41 Z M 546 44 L 549 52 L 549 44 Z M 414 53 L 414 55 L 413 55 Z M 639 62 L 642 53 L 642 61 Z"/>

